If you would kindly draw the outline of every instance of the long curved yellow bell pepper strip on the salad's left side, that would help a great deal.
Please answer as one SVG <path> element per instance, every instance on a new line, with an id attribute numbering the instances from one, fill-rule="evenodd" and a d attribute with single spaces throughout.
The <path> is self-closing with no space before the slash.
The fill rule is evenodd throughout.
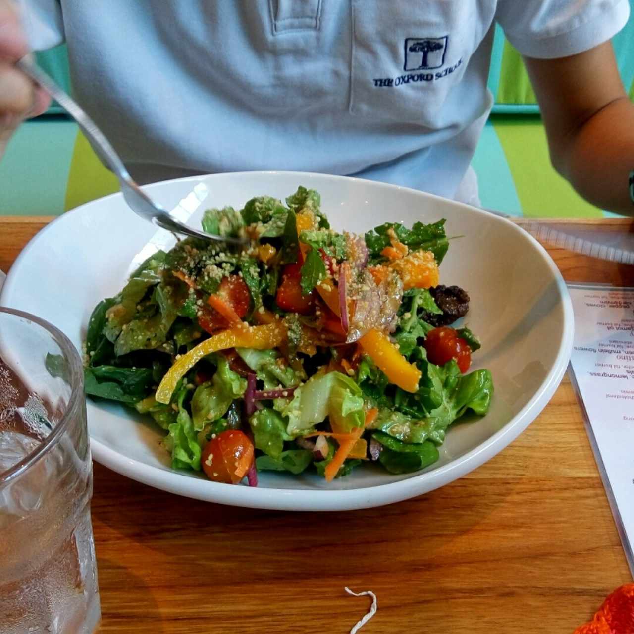
<path id="1" fill-rule="evenodd" d="M 244 324 L 230 330 L 223 330 L 223 332 L 205 339 L 204 342 L 193 347 L 188 353 L 180 356 L 160 382 L 156 399 L 159 403 L 169 403 L 179 380 L 207 354 L 226 350 L 227 348 L 268 350 L 279 346 L 286 336 L 286 328 L 281 321 L 252 327 Z"/>

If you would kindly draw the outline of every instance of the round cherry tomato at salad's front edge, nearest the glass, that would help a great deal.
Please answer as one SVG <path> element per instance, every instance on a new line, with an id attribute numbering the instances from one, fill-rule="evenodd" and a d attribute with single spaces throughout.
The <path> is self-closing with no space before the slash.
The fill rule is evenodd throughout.
<path id="1" fill-rule="evenodd" d="M 253 443 L 244 432 L 228 429 L 204 446 L 200 464 L 210 480 L 238 484 L 253 464 L 254 454 Z"/>

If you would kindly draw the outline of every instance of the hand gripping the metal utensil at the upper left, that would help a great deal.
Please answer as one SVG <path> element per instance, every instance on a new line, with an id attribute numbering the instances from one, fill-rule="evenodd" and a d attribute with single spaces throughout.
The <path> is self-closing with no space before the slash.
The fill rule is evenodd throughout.
<path id="1" fill-rule="evenodd" d="M 0 0 L 0 157 L 11 133 L 27 117 L 46 111 L 50 98 L 14 67 L 29 53 L 15 4 Z"/>

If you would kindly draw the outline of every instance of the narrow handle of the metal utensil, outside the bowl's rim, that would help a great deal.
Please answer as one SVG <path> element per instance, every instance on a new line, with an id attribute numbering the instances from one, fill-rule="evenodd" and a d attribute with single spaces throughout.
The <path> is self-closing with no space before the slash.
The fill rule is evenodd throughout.
<path id="1" fill-rule="evenodd" d="M 91 141 L 94 151 L 99 155 L 100 159 L 117 175 L 119 178 L 129 179 L 126 166 L 115 152 L 110 141 L 105 137 L 95 122 L 84 112 L 83 108 L 70 95 L 63 91 L 41 68 L 39 68 L 30 58 L 30 55 L 23 57 L 15 63 L 25 75 L 28 75 L 36 84 L 39 84 L 44 90 L 57 101 L 60 106 L 75 119 L 77 125 L 82 132 Z"/>

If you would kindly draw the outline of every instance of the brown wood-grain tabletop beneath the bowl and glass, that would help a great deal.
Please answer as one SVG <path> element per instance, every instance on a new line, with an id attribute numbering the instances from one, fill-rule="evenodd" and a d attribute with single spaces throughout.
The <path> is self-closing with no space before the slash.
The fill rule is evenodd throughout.
<path id="1" fill-rule="evenodd" d="M 0 218 L 0 268 L 48 218 Z M 581 221 L 630 231 L 631 221 Z M 634 267 L 550 251 L 566 280 L 634 285 Z M 300 514 L 163 493 L 94 465 L 100 632 L 570 634 L 631 582 L 564 379 L 484 466 L 383 508 Z"/>

